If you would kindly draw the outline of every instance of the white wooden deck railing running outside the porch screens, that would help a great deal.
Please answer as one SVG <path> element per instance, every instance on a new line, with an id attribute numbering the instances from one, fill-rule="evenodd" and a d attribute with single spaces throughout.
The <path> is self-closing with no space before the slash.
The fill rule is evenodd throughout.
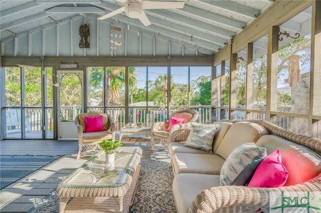
<path id="1" fill-rule="evenodd" d="M 171 112 L 178 109 L 183 109 L 186 107 L 182 106 L 171 106 Z M 196 122 L 199 123 L 212 123 L 215 121 L 215 114 L 212 114 L 212 109 L 210 106 L 191 106 L 190 108 L 199 111 L 199 118 Z M 6 109 L 6 134 L 21 132 L 22 128 L 25 128 L 26 132 L 31 131 L 41 131 L 42 127 L 42 113 L 40 106 L 31 106 L 31 107 L 7 107 Z M 288 109 L 284 109 L 287 111 Z M 105 112 L 109 114 L 116 123 L 116 130 L 119 130 L 121 127 L 125 126 L 125 107 L 110 106 L 110 107 L 88 107 L 88 111 L 98 111 Z M 141 111 L 140 116 L 136 117 L 136 114 Z M 228 109 L 223 110 L 224 118 L 228 118 Z M 245 111 L 243 109 L 235 110 L 238 112 L 237 116 L 235 115 L 234 119 L 246 119 Z M 63 106 L 61 107 L 60 119 L 61 121 L 73 121 L 77 114 L 81 113 L 81 106 Z M 24 122 L 22 121 L 24 117 Z M 166 107 L 139 107 L 131 106 L 129 107 L 129 122 L 137 123 L 142 122 L 146 126 L 151 126 L 154 122 L 165 121 L 168 119 L 168 111 Z M 233 118 L 232 118 L 233 119 Z M 252 110 L 247 114 L 247 119 L 265 119 L 264 110 Z M 282 128 L 292 130 L 294 132 L 307 135 L 307 124 L 304 117 L 295 117 L 282 115 L 280 112 L 272 122 Z M 46 123 L 45 129 L 48 131 L 53 131 L 54 128 L 54 112 L 53 107 L 46 107 Z M 313 123 L 313 137 L 321 138 L 321 122 Z"/>

